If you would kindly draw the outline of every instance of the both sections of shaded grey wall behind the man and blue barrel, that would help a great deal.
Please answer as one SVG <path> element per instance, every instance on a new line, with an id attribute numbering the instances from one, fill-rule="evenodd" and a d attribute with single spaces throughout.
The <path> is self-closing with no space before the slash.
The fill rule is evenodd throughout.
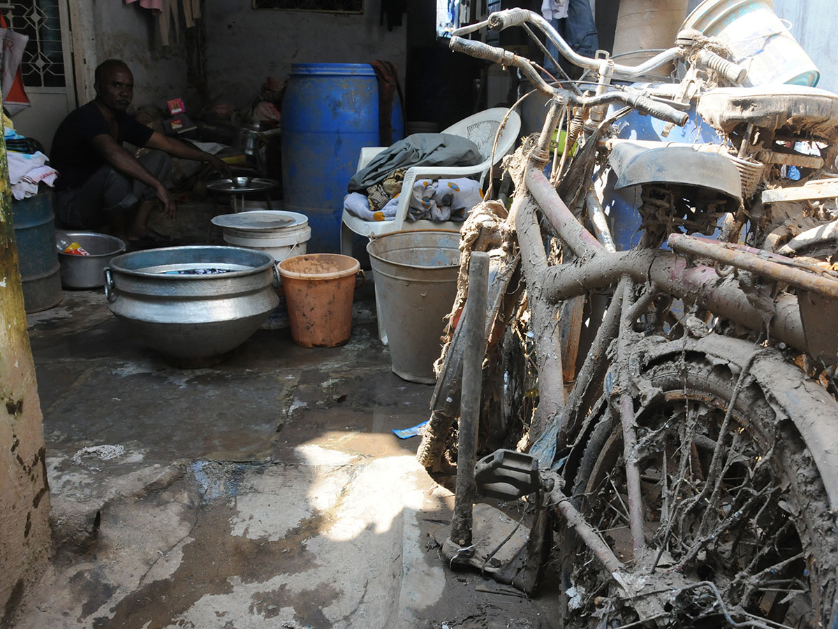
<path id="1" fill-rule="evenodd" d="M 403 85 L 406 23 L 388 31 L 379 25 L 379 7 L 374 0 L 365 0 L 363 15 L 338 15 L 255 11 L 250 0 L 206 0 L 209 97 L 248 107 L 266 77 L 282 81 L 292 63 L 389 60 L 398 67 Z M 134 74 L 135 106 L 162 107 L 173 96 L 184 96 L 189 106 L 194 92 L 187 89 L 183 21 L 180 41 L 163 46 L 158 18 L 139 3 L 96 0 L 93 16 L 96 60 L 117 57 L 126 61 Z"/>

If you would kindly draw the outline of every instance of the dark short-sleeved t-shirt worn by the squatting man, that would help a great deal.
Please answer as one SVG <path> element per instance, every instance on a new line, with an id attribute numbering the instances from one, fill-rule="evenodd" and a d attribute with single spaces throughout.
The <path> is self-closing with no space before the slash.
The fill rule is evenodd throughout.
<path id="1" fill-rule="evenodd" d="M 123 142 L 142 147 L 152 137 L 153 129 L 137 122 L 127 113 L 116 114 L 118 137 Z M 53 138 L 49 164 L 59 172 L 55 182 L 56 190 L 80 188 L 96 170 L 106 164 L 101 153 L 93 146 L 97 135 L 109 135 L 110 128 L 99 107 L 91 101 L 65 117 Z"/>

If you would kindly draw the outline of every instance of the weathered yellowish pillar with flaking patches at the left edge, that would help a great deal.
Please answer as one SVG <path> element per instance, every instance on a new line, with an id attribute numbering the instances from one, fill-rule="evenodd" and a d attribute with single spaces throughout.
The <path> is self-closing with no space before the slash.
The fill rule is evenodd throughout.
<path id="1" fill-rule="evenodd" d="M 49 559 L 44 418 L 14 247 L 6 145 L 0 142 L 0 626 Z"/>

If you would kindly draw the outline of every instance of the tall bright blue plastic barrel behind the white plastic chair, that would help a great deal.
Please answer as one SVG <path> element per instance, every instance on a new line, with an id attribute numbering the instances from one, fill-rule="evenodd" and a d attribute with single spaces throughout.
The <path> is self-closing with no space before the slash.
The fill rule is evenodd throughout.
<path id="1" fill-rule="evenodd" d="M 340 251 L 346 185 L 360 149 L 378 145 L 371 65 L 291 66 L 282 101 L 282 186 L 285 209 L 308 216 L 308 252 Z"/>

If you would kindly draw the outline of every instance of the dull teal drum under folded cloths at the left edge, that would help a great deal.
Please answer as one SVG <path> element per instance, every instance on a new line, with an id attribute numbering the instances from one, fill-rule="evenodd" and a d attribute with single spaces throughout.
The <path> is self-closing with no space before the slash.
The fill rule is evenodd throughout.
<path id="1" fill-rule="evenodd" d="M 61 267 L 53 220 L 51 190 L 12 201 L 23 307 L 28 313 L 52 308 L 61 301 Z"/>

